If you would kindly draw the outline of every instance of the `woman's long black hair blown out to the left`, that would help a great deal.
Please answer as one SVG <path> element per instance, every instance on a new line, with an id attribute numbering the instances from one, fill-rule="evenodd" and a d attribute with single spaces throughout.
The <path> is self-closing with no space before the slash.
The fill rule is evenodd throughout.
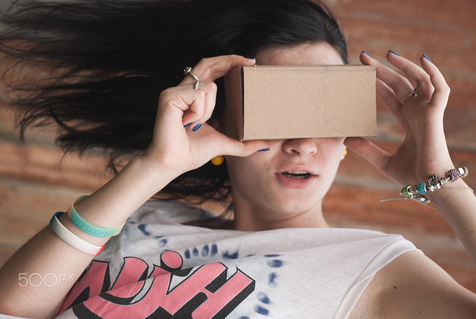
<path id="1" fill-rule="evenodd" d="M 114 170 L 121 156 L 149 146 L 159 93 L 201 58 L 327 42 L 347 63 L 339 25 L 318 0 L 18 0 L 1 23 L 4 61 L 35 70 L 21 82 L 7 77 L 19 68 L 3 76 L 15 93 L 21 134 L 57 123 L 62 148 L 106 152 Z M 217 85 L 210 123 L 225 106 L 220 79 Z M 226 164 L 184 173 L 161 193 L 228 199 Z"/>

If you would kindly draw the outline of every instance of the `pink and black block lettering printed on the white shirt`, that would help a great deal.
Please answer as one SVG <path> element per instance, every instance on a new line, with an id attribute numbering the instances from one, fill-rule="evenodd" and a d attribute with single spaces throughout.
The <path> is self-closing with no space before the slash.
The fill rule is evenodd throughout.
<path id="1" fill-rule="evenodd" d="M 222 263 L 180 270 L 182 262 L 177 252 L 166 251 L 160 255 L 160 266 L 153 265 L 146 279 L 147 263 L 125 257 L 112 289 L 104 292 L 109 264 L 94 260 L 71 289 L 60 313 L 87 298 L 73 307 L 80 319 L 219 319 L 226 318 L 255 289 L 255 280 L 238 268 L 227 280 L 228 268 Z M 172 279 L 179 279 L 173 288 Z"/>

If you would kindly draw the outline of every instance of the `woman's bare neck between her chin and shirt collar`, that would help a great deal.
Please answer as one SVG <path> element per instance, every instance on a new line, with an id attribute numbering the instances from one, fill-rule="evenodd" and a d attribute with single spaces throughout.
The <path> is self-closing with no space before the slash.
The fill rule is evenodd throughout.
<path id="1" fill-rule="evenodd" d="M 322 216 L 322 200 L 300 212 L 284 212 L 278 209 L 253 205 L 233 195 L 234 229 L 260 231 L 278 228 L 330 227 Z"/>

